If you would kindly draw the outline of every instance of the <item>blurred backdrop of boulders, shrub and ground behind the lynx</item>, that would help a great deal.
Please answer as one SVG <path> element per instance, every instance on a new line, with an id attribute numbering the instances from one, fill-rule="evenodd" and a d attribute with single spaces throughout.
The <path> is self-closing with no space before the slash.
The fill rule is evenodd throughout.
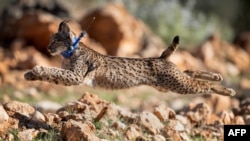
<path id="1" fill-rule="evenodd" d="M 197 99 L 228 101 L 226 107 L 211 102 L 216 112 L 237 109 L 250 93 L 249 5 L 247 0 L 2 0 L 0 101 L 49 103 L 57 109 L 89 91 L 134 111 L 160 103 L 179 110 Z M 94 50 L 121 57 L 156 57 L 179 35 L 180 48 L 171 60 L 181 70 L 221 73 L 222 85 L 234 88 L 237 95 L 183 96 L 147 86 L 107 91 L 24 80 L 23 74 L 36 65 L 60 66 L 61 58 L 50 56 L 47 45 L 62 20 L 70 20 L 71 29 L 79 34 L 93 17 L 96 20 L 82 42 Z"/>

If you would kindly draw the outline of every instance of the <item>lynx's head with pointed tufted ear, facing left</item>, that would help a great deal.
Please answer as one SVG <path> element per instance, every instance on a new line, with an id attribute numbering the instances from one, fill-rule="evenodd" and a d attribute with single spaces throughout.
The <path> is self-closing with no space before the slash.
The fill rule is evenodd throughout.
<path id="1" fill-rule="evenodd" d="M 50 43 L 48 45 L 49 53 L 51 55 L 59 55 L 61 52 L 70 50 L 72 41 L 75 37 L 75 34 L 70 31 L 67 21 L 61 22 L 58 32 L 53 34 L 50 38 Z"/>

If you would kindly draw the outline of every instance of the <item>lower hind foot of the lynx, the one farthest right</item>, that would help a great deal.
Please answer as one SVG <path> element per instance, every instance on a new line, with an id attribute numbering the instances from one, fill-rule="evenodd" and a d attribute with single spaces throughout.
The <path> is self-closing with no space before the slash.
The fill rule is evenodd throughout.
<path id="1" fill-rule="evenodd" d="M 236 92 L 232 88 L 225 88 L 225 87 L 218 86 L 218 85 L 212 85 L 211 90 L 214 93 L 224 95 L 224 96 L 234 96 L 236 94 Z"/>

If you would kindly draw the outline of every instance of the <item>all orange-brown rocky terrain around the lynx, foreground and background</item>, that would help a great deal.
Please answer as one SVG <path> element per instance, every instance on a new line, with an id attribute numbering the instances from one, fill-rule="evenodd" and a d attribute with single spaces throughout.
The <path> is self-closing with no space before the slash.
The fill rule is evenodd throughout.
<path id="1" fill-rule="evenodd" d="M 221 85 L 234 88 L 235 97 L 160 93 L 146 86 L 64 87 L 24 80 L 24 72 L 36 65 L 60 66 L 61 59 L 49 56 L 46 47 L 63 18 L 53 8 L 23 10 L 20 5 L 17 13 L 7 8 L 1 17 L 0 140 L 216 141 L 223 140 L 224 124 L 250 124 L 249 33 L 234 43 L 214 34 L 171 56 L 182 70 L 221 73 Z M 121 5 L 92 9 L 71 20 L 70 27 L 78 34 L 92 17 L 96 21 L 82 41 L 102 54 L 155 57 L 167 46 Z"/>

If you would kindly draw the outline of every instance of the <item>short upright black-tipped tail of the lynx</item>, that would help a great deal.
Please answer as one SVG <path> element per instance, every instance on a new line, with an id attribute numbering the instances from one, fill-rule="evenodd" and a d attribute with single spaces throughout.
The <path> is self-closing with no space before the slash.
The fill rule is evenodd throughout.
<path id="1" fill-rule="evenodd" d="M 171 45 L 165 51 L 163 51 L 160 58 L 168 59 L 169 56 L 171 56 L 174 53 L 174 51 L 177 49 L 179 45 L 179 40 L 180 40 L 179 36 L 175 36 Z"/>

